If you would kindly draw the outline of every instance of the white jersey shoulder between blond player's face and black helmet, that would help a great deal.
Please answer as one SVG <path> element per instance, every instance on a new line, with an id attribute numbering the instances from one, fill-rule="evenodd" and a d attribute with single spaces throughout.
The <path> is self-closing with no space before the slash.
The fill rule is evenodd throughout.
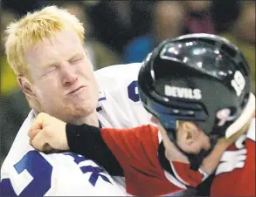
<path id="1" fill-rule="evenodd" d="M 98 118 L 103 127 L 135 127 L 149 124 L 151 114 L 139 98 L 140 63 L 112 65 L 96 71 L 100 85 Z"/>

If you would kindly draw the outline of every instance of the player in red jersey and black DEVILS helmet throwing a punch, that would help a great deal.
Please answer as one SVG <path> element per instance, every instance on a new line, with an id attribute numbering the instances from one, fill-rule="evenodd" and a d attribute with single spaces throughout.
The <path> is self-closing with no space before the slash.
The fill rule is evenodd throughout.
<path id="1" fill-rule="evenodd" d="M 167 40 L 142 63 L 138 89 L 157 128 L 73 126 L 42 114 L 31 144 L 98 161 L 125 177 L 128 194 L 175 194 L 213 174 L 211 195 L 255 195 L 255 98 L 235 45 L 207 34 Z"/>

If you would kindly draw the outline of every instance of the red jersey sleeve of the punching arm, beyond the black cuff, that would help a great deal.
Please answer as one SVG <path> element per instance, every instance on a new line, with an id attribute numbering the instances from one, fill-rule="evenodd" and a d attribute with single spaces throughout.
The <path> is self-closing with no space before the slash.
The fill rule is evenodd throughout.
<path id="1" fill-rule="evenodd" d="M 180 191 L 164 175 L 159 163 L 158 129 L 140 126 L 132 129 L 100 130 L 101 136 L 119 161 L 126 180 L 128 194 L 149 196 Z"/>

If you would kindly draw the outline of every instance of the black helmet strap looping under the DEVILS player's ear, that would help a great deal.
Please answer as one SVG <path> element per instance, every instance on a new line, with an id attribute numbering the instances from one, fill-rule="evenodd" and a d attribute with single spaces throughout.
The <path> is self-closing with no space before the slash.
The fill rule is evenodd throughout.
<path id="1" fill-rule="evenodd" d="M 175 144 L 177 149 L 188 158 L 188 160 L 190 161 L 190 169 L 194 170 L 194 171 L 198 171 L 198 168 L 201 166 L 204 158 L 211 153 L 211 151 L 213 150 L 214 146 L 216 145 L 217 139 L 218 139 L 217 136 L 211 136 L 210 137 L 211 147 L 207 151 L 202 149 L 200 151 L 200 153 L 197 153 L 197 154 L 195 154 L 195 153 L 186 153 L 176 144 L 175 131 L 173 129 L 166 129 L 166 130 L 168 132 L 169 139 Z"/>

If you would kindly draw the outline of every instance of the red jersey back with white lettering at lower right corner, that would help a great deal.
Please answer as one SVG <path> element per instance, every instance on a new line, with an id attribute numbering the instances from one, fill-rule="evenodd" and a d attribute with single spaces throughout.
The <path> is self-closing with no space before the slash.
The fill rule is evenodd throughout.
<path id="1" fill-rule="evenodd" d="M 211 185 L 212 196 L 255 196 L 255 119 L 247 133 L 227 150 Z"/>

